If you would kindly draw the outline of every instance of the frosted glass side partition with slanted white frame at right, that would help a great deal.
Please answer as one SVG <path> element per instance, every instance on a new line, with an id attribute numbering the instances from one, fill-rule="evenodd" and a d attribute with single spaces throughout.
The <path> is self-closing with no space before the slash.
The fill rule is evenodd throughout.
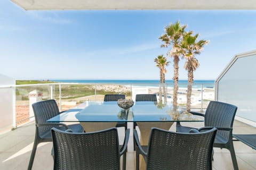
<path id="1" fill-rule="evenodd" d="M 237 106 L 236 119 L 256 126 L 256 51 L 235 55 L 216 80 L 216 99 Z"/>

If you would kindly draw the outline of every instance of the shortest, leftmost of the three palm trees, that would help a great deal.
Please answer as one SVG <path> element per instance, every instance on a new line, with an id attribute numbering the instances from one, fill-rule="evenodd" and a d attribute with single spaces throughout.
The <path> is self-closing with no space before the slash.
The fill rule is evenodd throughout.
<path id="1" fill-rule="evenodd" d="M 154 61 L 160 71 L 159 103 L 162 103 L 162 85 L 163 83 L 165 83 L 165 73 L 167 72 L 167 70 L 165 69 L 165 66 L 168 66 L 170 62 L 167 62 L 167 58 L 164 57 L 163 55 L 158 55 Z M 164 85 L 163 85 L 163 92 L 164 92 L 164 103 L 166 103 L 166 90 Z"/>

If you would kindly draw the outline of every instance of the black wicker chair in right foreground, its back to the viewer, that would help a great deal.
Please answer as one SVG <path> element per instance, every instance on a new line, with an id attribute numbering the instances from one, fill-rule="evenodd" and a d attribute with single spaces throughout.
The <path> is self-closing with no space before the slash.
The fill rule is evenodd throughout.
<path id="1" fill-rule="evenodd" d="M 136 169 L 139 169 L 139 154 L 149 169 L 212 169 L 212 147 L 216 128 L 199 133 L 177 133 L 152 128 L 148 147 L 141 147 L 137 131 Z"/>

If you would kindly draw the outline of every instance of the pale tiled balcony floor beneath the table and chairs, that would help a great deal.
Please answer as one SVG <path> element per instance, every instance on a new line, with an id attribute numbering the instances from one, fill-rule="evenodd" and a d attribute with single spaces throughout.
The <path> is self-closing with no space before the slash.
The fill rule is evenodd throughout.
<path id="1" fill-rule="evenodd" d="M 182 125 L 201 127 L 202 122 L 182 123 Z M 175 131 L 175 123 L 170 128 Z M 244 123 L 235 121 L 235 133 L 255 133 L 256 128 Z M 124 139 L 124 130 L 118 129 L 120 142 Z M 139 132 L 140 134 L 140 132 Z M 0 169 L 27 169 L 28 162 L 33 147 L 35 135 L 34 122 L 20 126 L 18 129 L 0 134 Z M 130 134 L 132 138 L 132 133 Z M 130 142 L 132 145 L 132 142 Z M 236 157 L 239 169 L 256 170 L 256 150 L 244 145 L 242 142 L 234 142 Z M 33 169 L 53 169 L 53 158 L 51 156 L 52 143 L 40 143 L 37 147 Z M 122 160 L 122 158 L 121 158 Z M 130 146 L 130 151 L 127 152 L 126 169 L 135 169 L 135 154 Z M 233 169 L 230 152 L 227 149 L 214 148 L 214 170 Z"/>

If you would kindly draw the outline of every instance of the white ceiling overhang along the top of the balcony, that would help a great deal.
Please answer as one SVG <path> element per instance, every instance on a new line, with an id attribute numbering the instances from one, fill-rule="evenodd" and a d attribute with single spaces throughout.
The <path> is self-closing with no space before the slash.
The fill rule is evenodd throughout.
<path id="1" fill-rule="evenodd" d="M 255 10 L 255 0 L 10 0 L 25 10 Z"/>

